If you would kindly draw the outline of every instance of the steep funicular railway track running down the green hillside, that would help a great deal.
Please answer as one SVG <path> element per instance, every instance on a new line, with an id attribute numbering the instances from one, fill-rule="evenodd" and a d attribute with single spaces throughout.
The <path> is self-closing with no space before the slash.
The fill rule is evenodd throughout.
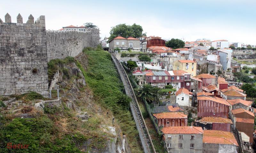
<path id="1" fill-rule="evenodd" d="M 140 141 L 141 141 L 142 147 L 144 149 L 144 152 L 145 153 L 156 153 L 156 150 L 154 148 L 154 145 L 153 145 L 150 135 L 148 133 L 148 128 L 147 128 L 146 123 L 141 114 L 138 101 L 137 101 L 135 93 L 132 89 L 130 80 L 129 80 L 122 64 L 119 62 L 119 60 L 116 58 L 116 56 L 112 54 L 111 57 L 116 65 L 116 68 L 119 72 L 121 80 L 124 84 L 124 89 L 125 89 L 126 94 L 129 97 L 131 97 L 131 99 L 132 99 L 132 102 L 130 103 L 132 116 L 136 123 L 136 127 L 139 131 Z"/>

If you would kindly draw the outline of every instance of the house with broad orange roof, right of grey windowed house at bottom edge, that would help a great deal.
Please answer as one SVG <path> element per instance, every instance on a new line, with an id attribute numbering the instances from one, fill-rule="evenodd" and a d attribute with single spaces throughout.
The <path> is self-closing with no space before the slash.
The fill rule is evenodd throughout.
<path id="1" fill-rule="evenodd" d="M 239 146 L 233 133 L 220 130 L 204 130 L 204 153 L 235 153 Z"/>

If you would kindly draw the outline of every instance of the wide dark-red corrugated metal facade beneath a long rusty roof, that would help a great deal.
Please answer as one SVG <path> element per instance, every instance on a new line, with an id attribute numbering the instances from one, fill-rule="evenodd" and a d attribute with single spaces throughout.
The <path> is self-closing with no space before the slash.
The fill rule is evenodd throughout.
<path id="1" fill-rule="evenodd" d="M 223 117 L 228 118 L 229 106 L 211 100 L 198 100 L 198 117 Z"/>

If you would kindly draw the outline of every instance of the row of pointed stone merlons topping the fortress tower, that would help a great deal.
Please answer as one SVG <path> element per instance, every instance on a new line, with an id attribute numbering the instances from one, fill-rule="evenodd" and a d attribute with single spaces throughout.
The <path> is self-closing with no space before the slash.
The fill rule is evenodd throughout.
<path id="1" fill-rule="evenodd" d="M 34 21 L 34 17 L 32 14 L 28 16 L 28 21 L 26 23 L 23 23 L 23 18 L 20 15 L 20 13 L 17 16 L 17 23 L 12 22 L 12 17 L 9 13 L 6 13 L 4 16 L 5 22 L 0 18 L 0 25 L 5 25 L 5 24 L 16 24 L 16 25 L 21 25 L 21 24 L 31 24 L 30 26 L 45 26 L 45 16 L 41 15 L 39 18 Z"/>

